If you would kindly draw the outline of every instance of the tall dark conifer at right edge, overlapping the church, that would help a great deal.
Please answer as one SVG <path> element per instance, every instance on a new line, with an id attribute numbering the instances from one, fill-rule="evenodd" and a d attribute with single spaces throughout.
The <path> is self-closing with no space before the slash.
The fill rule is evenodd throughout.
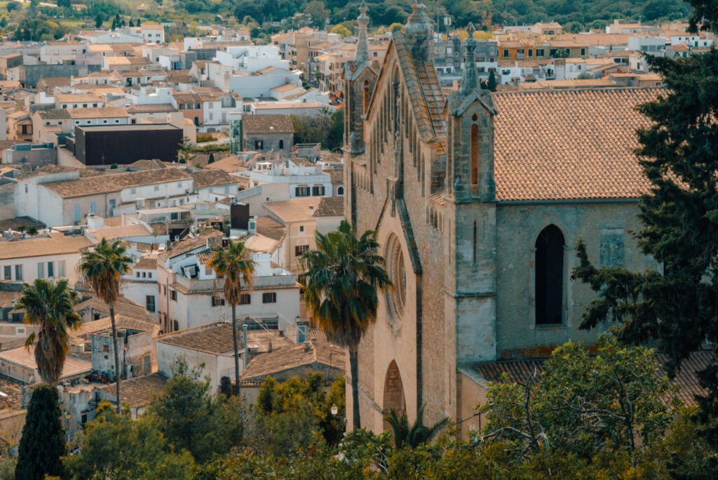
<path id="1" fill-rule="evenodd" d="M 692 0 L 691 24 L 718 31 L 718 6 Z M 702 420 L 718 419 L 718 50 L 671 59 L 651 57 L 666 92 L 640 106 L 651 124 L 638 130 L 640 166 L 651 188 L 638 203 L 643 229 L 635 233 L 640 251 L 663 264 L 663 272 L 597 268 L 582 241 L 572 277 L 599 292 L 582 317 L 581 328 L 618 324 L 628 343 L 657 343 L 668 374 L 709 345 L 712 361 L 699 372 L 706 391 L 699 397 Z M 713 430 L 718 446 L 718 427 Z"/>

